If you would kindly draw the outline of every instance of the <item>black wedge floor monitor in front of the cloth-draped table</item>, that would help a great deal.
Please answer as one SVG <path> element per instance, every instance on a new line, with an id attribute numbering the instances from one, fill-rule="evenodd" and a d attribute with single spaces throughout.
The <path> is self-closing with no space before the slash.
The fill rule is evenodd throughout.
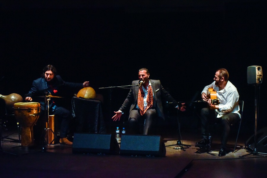
<path id="1" fill-rule="evenodd" d="M 98 155 L 119 154 L 120 147 L 115 134 L 74 133 L 72 152 Z"/>

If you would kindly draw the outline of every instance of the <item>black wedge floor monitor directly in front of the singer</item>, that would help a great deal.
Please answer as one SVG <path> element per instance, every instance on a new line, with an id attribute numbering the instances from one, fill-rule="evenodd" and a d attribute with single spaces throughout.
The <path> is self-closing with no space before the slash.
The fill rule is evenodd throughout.
<path id="1" fill-rule="evenodd" d="M 166 147 L 159 135 L 122 135 L 120 155 L 165 157 Z"/>

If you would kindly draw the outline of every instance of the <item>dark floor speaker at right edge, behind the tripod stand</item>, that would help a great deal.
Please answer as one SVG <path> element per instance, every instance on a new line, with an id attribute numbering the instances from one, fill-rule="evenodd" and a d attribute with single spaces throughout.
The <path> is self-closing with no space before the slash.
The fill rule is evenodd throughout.
<path id="1" fill-rule="evenodd" d="M 267 154 L 267 127 L 260 129 L 256 134 L 257 140 L 257 152 Z M 250 138 L 246 141 L 246 146 L 254 150 L 255 148 L 255 134 L 250 136 Z"/>

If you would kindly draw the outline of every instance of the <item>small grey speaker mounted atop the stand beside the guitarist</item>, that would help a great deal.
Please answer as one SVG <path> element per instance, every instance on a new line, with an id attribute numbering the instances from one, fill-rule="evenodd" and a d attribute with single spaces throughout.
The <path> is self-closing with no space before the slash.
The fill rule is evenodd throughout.
<path id="1" fill-rule="evenodd" d="M 261 66 L 248 66 L 247 67 L 247 83 L 248 84 L 261 84 L 263 78 Z"/>

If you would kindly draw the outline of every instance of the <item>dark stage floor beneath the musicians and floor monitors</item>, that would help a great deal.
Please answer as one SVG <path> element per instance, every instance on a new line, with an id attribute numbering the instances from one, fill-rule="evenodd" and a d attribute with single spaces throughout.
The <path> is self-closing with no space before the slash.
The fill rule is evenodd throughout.
<path id="1" fill-rule="evenodd" d="M 51 144 L 21 147 L 16 131 L 3 131 L 1 141 L 1 177 L 263 177 L 266 176 L 266 154 L 247 155 L 245 140 L 236 135 L 229 138 L 232 151 L 218 156 L 220 136 L 214 136 L 212 152 L 195 147 L 199 131 L 185 130 L 181 135 L 163 132 L 165 157 L 97 155 L 72 153 L 72 146 Z M 182 147 L 177 140 L 182 137 Z M 119 141 L 120 145 L 120 141 Z M 188 146 L 186 146 L 188 145 Z M 247 156 L 246 156 L 247 155 Z M 240 158 L 239 156 L 243 156 Z"/>

